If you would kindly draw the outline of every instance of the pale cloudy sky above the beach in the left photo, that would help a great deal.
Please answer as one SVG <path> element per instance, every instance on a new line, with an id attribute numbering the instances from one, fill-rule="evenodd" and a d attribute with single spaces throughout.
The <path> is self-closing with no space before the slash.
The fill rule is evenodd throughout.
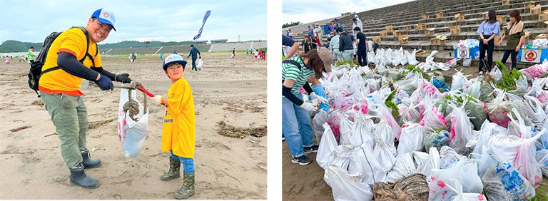
<path id="1" fill-rule="evenodd" d="M 211 14 L 198 40 L 266 40 L 266 0 L 0 0 L 0 43 L 43 42 L 52 31 L 86 26 L 93 11 L 105 8 L 116 16 L 105 41 L 191 41 Z M 245 27 L 245 29 L 242 29 Z"/>

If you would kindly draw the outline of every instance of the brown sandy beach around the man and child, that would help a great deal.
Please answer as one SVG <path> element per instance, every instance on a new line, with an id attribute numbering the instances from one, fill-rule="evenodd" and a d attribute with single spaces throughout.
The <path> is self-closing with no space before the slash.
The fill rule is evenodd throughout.
<path id="1" fill-rule="evenodd" d="M 245 53 L 234 59 L 230 55 L 202 53 L 203 71 L 190 72 L 188 63 L 183 75 L 196 104 L 196 195 L 191 199 L 267 197 L 267 138 L 228 138 L 216 131 L 221 120 L 245 128 L 266 125 L 266 61 L 253 62 L 253 57 Z M 135 63 L 127 56 L 106 56 L 102 60 L 103 68 L 129 73 L 133 81 L 140 81 L 153 94 L 165 96 L 171 85 L 159 56 L 138 56 Z M 120 90 L 101 91 L 88 86 L 88 81 L 82 82 L 80 90 L 90 123 L 115 118 L 88 130 L 91 158 L 100 158 L 103 163 L 99 168 L 86 169 L 101 185 L 84 189 L 68 180 L 70 173 L 61 158 L 54 124 L 44 105 L 34 104 L 40 98 L 28 87 L 28 72 L 29 63 L 11 61 L 11 66 L 0 66 L 2 199 L 173 200 L 173 192 L 182 186 L 183 179 L 160 180 L 169 168 L 169 153 L 161 152 L 165 113 L 161 105 L 152 105 L 149 99 L 149 130 L 141 152 L 136 158 L 123 158 L 116 133 Z M 143 93 L 137 98 L 142 103 Z M 25 126 L 29 128 L 12 131 Z"/>

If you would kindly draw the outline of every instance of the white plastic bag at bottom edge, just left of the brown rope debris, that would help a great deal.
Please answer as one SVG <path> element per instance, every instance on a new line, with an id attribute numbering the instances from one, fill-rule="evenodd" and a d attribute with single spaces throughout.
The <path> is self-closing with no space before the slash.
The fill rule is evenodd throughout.
<path id="1" fill-rule="evenodd" d="M 371 187 L 360 179 L 358 172 L 349 173 L 337 165 L 325 168 L 325 177 L 329 179 L 333 200 L 372 200 Z"/>

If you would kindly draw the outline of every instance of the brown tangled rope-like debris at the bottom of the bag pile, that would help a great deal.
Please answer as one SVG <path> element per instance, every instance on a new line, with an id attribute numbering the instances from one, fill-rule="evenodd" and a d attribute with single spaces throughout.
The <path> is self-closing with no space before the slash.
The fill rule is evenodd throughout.
<path id="1" fill-rule="evenodd" d="M 419 173 L 404 177 L 393 184 L 386 184 L 384 182 L 375 182 L 373 184 L 375 201 L 427 200 L 428 191 L 426 176 Z"/>

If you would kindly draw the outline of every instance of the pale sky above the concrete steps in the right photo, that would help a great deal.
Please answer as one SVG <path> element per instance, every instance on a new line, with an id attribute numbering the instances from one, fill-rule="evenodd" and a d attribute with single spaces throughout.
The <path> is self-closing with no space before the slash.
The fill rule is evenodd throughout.
<path id="1" fill-rule="evenodd" d="M 308 23 L 335 18 L 345 12 L 358 13 L 408 1 L 412 0 L 283 0 L 282 21 L 283 24 L 295 21 Z"/>

